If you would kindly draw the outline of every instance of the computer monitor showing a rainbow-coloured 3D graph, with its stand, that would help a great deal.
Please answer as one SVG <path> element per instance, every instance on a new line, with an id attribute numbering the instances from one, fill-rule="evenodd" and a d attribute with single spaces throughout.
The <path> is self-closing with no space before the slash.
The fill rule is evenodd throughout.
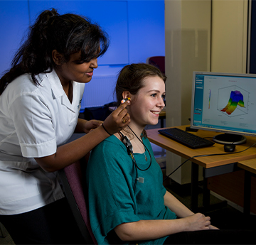
<path id="1" fill-rule="evenodd" d="M 223 132 L 223 144 L 256 136 L 256 75 L 193 72 L 191 128 Z"/>

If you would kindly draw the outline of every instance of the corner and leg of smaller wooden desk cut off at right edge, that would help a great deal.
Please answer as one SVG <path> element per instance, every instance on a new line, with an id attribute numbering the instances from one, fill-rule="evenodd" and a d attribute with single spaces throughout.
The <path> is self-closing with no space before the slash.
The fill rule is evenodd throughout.
<path id="1" fill-rule="evenodd" d="M 252 176 L 256 177 L 256 158 L 238 162 L 238 167 L 245 170 L 244 214 L 250 214 L 250 196 Z"/>

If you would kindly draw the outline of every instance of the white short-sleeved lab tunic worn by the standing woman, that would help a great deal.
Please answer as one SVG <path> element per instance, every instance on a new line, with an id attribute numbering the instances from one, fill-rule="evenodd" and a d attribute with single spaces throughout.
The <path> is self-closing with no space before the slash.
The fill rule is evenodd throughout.
<path id="1" fill-rule="evenodd" d="M 21 75 L 0 96 L 0 214 L 20 214 L 63 198 L 56 173 L 34 158 L 50 156 L 72 136 L 85 84 L 73 82 L 70 103 L 53 70 Z"/>

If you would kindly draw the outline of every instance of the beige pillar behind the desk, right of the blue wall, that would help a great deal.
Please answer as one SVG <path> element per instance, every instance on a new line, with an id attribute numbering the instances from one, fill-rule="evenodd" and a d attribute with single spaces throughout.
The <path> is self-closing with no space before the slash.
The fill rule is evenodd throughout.
<path id="1" fill-rule="evenodd" d="M 165 1 L 166 126 L 189 124 L 193 70 L 210 70 L 210 0 Z M 166 174 L 183 161 L 167 151 Z M 191 182 L 186 163 L 171 176 L 180 184 Z"/>

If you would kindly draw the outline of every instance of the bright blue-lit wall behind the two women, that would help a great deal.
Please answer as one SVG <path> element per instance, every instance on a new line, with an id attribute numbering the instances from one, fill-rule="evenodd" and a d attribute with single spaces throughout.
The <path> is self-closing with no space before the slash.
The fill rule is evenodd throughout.
<path id="1" fill-rule="evenodd" d="M 43 9 L 78 13 L 110 35 L 110 48 L 99 58 L 92 81 L 85 85 L 82 108 L 112 102 L 117 72 L 132 62 L 164 55 L 164 0 L 156 1 L 0 1 L 0 72 L 9 69 L 24 31 Z"/>

